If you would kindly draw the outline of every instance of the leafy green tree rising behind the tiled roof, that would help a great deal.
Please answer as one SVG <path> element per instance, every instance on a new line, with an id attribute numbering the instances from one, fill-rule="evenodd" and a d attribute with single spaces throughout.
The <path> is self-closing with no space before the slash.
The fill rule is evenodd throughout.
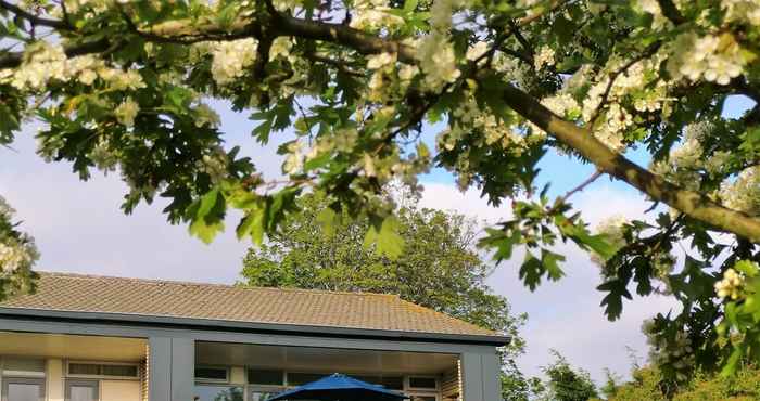
<path id="1" fill-rule="evenodd" d="M 396 211 L 404 253 L 378 254 L 365 242 L 368 219 L 342 211 L 329 230 L 320 224 L 328 203 L 321 194 L 299 200 L 269 241 L 249 249 L 243 260 L 244 284 L 345 292 L 395 294 L 402 299 L 509 335 L 503 350 L 503 393 L 506 400 L 528 400 L 531 384 L 517 368 L 523 351 L 519 327 L 525 315 L 512 316 L 505 297 L 485 284 L 492 267 L 474 249 L 476 223 L 461 215 L 418 208 L 414 199 Z"/>

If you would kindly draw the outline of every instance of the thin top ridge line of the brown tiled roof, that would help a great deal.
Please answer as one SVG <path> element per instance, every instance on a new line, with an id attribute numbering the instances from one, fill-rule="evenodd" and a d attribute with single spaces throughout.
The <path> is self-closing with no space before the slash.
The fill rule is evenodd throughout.
<path id="1" fill-rule="evenodd" d="M 85 273 L 69 273 L 69 272 L 53 272 L 53 271 L 37 271 L 40 275 L 58 276 L 58 277 L 68 277 L 68 279 L 107 279 L 107 280 L 122 280 L 126 282 L 140 283 L 140 284 L 169 284 L 169 285 L 187 285 L 197 287 L 220 287 L 230 289 L 243 289 L 243 290 L 269 290 L 269 292 L 290 292 L 290 293 L 307 293 L 307 294 L 328 294 L 328 295 L 351 295 L 351 296 L 373 296 L 373 297 L 387 297 L 387 298 L 397 298 L 401 297 L 397 294 L 382 294 L 372 292 L 345 292 L 345 290 L 329 290 L 329 289 L 308 289 L 308 288 L 296 288 L 296 287 L 262 287 L 254 285 L 246 285 L 242 283 L 235 284 L 221 284 L 221 283 L 203 283 L 203 282 L 190 282 L 180 280 L 165 280 L 165 279 L 143 279 L 143 277 L 125 277 L 117 275 L 105 275 L 105 274 L 85 274 Z"/>

